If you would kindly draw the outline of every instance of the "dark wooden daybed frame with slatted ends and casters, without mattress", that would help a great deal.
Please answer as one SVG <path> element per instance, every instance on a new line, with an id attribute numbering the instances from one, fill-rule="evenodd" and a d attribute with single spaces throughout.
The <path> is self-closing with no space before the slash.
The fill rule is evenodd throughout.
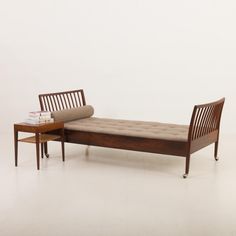
<path id="1" fill-rule="evenodd" d="M 42 111 L 58 111 L 86 105 L 84 91 L 73 90 L 39 95 Z M 65 130 L 65 142 L 119 148 L 186 158 L 184 178 L 188 176 L 190 155 L 215 143 L 214 157 L 218 160 L 220 119 L 225 98 L 194 106 L 187 141 L 129 137 L 95 132 Z"/>

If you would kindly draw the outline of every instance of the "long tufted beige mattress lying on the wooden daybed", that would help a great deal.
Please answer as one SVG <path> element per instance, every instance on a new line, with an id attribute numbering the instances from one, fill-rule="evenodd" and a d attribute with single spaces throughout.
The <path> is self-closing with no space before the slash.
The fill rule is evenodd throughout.
<path id="1" fill-rule="evenodd" d="M 65 129 L 142 138 L 187 141 L 189 126 L 90 117 L 68 122 L 65 124 Z"/>

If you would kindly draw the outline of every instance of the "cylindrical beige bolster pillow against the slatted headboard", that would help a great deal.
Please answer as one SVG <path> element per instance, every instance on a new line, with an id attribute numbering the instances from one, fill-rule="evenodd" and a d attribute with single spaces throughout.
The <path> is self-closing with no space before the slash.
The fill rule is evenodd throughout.
<path id="1" fill-rule="evenodd" d="M 78 108 L 72 108 L 72 109 L 65 109 L 61 111 L 54 111 L 52 112 L 52 117 L 55 121 L 72 121 L 77 119 L 83 119 L 91 117 L 94 113 L 94 109 L 92 106 L 82 106 Z"/>

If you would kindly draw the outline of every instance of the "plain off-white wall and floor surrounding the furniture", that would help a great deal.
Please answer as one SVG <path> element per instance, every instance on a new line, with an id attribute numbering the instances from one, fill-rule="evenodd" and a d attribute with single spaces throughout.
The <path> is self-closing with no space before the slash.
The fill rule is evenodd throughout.
<path id="1" fill-rule="evenodd" d="M 235 0 L 0 0 L 0 235 L 236 235 L 235 79 Z M 185 124 L 225 96 L 220 161 L 184 180 L 184 158 L 51 142 L 15 168 L 13 123 L 79 88 L 96 116 Z"/>

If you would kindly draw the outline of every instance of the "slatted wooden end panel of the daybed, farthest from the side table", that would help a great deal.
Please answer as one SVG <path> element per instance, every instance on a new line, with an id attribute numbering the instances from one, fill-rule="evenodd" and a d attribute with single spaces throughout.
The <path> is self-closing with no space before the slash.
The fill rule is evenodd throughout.
<path id="1" fill-rule="evenodd" d="M 222 98 L 216 102 L 194 106 L 189 127 L 189 141 L 219 130 L 224 102 L 225 98 Z"/>

